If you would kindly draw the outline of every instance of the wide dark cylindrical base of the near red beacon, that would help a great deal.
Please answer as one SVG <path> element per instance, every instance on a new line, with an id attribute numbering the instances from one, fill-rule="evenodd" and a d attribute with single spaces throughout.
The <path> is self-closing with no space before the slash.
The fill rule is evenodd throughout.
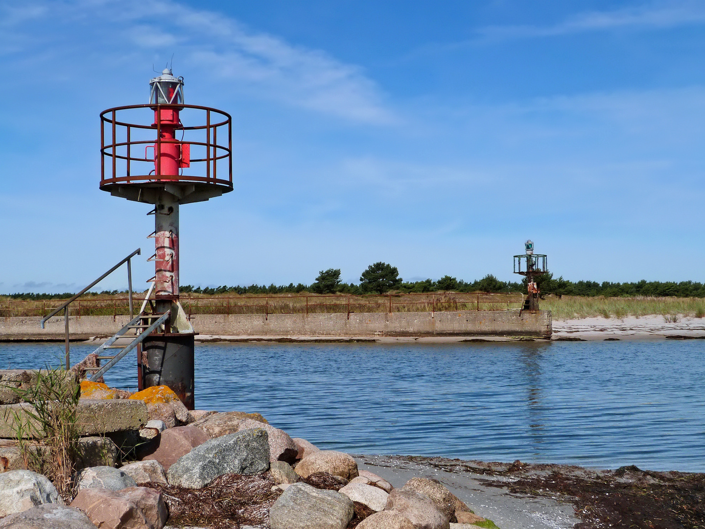
<path id="1" fill-rule="evenodd" d="M 168 386 L 194 409 L 195 333 L 159 334 L 142 342 L 142 387 Z"/>

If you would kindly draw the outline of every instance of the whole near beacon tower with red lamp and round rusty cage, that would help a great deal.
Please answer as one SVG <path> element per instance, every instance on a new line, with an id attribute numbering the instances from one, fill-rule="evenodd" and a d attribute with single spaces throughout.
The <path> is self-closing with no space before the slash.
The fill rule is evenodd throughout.
<path id="1" fill-rule="evenodd" d="M 149 104 L 100 114 L 100 188 L 154 205 L 154 303 L 135 327 L 170 315 L 138 348 L 138 387 L 164 384 L 193 409 L 195 332 L 179 302 L 179 207 L 233 190 L 231 116 L 185 104 L 183 78 L 171 70 L 149 85 Z"/>

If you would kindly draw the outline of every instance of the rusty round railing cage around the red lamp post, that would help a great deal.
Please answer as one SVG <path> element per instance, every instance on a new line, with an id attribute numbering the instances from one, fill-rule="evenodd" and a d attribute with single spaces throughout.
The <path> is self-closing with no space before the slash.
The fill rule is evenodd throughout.
<path id="1" fill-rule="evenodd" d="M 179 174 L 161 173 L 162 147 L 169 142 L 161 140 L 161 110 L 168 109 L 180 111 L 181 138 L 176 143 L 188 153 L 188 159 L 185 154 L 180 160 Z M 154 123 L 143 118 L 145 110 Z M 100 121 L 101 189 L 165 181 L 222 186 L 223 193 L 233 189 L 230 114 L 190 104 L 139 104 L 102 111 Z"/>

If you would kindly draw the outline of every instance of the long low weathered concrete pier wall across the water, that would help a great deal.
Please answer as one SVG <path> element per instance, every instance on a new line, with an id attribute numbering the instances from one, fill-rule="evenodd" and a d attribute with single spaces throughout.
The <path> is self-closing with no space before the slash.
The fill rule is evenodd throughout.
<path id="1" fill-rule="evenodd" d="M 46 329 L 39 317 L 0 320 L 0 340 L 61 339 L 63 317 Z M 72 316 L 71 339 L 111 336 L 127 316 Z M 216 336 L 537 336 L 550 338 L 551 312 L 468 310 L 458 312 L 358 312 L 334 314 L 193 315 L 196 332 Z"/>

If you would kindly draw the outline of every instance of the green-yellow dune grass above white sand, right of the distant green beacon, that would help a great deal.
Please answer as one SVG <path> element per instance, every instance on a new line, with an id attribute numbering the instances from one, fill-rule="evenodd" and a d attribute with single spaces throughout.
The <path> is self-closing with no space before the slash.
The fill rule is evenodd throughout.
<path id="1" fill-rule="evenodd" d="M 680 317 L 704 317 L 703 298 L 605 298 L 596 296 L 546 296 L 541 309 L 550 310 L 553 320 L 578 320 L 587 317 L 642 317 L 661 315 L 664 320 L 675 322 Z"/>

